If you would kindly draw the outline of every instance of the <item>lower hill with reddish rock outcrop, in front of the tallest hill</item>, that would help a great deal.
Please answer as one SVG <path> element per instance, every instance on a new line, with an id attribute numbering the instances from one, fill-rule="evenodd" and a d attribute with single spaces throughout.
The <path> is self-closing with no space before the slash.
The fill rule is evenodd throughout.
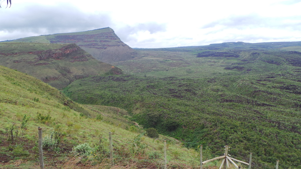
<path id="1" fill-rule="evenodd" d="M 76 44 L 0 42 L 0 65 L 32 75 L 55 88 L 90 75 L 121 74 Z"/>

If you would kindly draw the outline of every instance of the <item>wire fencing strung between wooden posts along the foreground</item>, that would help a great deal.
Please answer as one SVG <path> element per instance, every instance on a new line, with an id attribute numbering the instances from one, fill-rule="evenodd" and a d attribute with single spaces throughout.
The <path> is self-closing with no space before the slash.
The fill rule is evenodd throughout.
<path id="1" fill-rule="evenodd" d="M 44 131 L 43 131 L 44 132 Z M 64 140 L 62 139 L 62 135 Z M 225 155 L 225 146 L 221 145 L 198 145 L 195 143 L 180 142 L 167 140 L 166 156 L 164 155 L 163 140 L 156 140 L 156 149 L 147 150 L 144 141 L 141 140 L 143 135 L 139 134 L 133 139 L 114 140 L 112 138 L 112 150 L 110 149 L 109 140 L 103 137 L 91 136 L 92 145 L 80 144 L 80 140 L 74 139 L 70 134 L 54 133 L 53 131 L 45 131 L 43 133 L 42 153 L 45 168 L 54 169 L 96 169 L 96 168 L 219 168 L 222 160 L 214 160 L 201 165 L 203 161 L 207 161 L 216 157 Z M 91 139 L 90 138 L 90 139 Z M 47 142 L 48 139 L 48 142 Z M 180 152 L 175 146 L 184 147 L 185 145 L 193 145 L 197 149 L 187 149 L 187 152 Z M 81 147 L 82 146 L 82 147 Z M 200 147 L 202 147 L 202 161 L 200 161 Z M 111 156 L 113 152 L 113 157 Z M 227 154 L 226 154 L 227 155 Z M 228 156 L 239 161 L 249 163 L 250 152 L 229 148 Z M 165 165 L 165 159 L 167 164 Z M 28 140 L 24 136 L 9 140 L 8 134 L 0 137 L 0 168 L 13 168 L 31 164 L 32 167 L 40 168 L 38 139 Z M 285 168 L 301 168 L 299 164 L 290 162 L 282 163 L 277 159 L 269 158 L 259 154 L 252 155 L 251 168 L 256 169 L 275 169 Z M 237 163 L 241 168 L 249 166 Z M 12 167 L 13 166 L 13 167 Z M 232 166 L 234 167 L 234 166 Z M 22 168 L 22 167 L 20 167 Z"/>

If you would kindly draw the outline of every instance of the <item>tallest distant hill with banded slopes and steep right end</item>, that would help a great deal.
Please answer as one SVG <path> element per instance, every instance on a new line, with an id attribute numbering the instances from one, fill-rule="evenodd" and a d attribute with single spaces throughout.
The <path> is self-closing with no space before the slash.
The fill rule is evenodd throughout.
<path id="1" fill-rule="evenodd" d="M 97 60 L 105 63 L 132 60 L 137 56 L 137 52 L 123 43 L 109 27 L 85 32 L 33 36 L 13 42 L 75 43 Z"/>

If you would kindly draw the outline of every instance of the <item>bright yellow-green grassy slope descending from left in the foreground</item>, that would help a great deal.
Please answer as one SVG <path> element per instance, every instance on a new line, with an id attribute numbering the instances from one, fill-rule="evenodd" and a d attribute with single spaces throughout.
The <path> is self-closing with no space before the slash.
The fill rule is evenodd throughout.
<path id="1" fill-rule="evenodd" d="M 79 161 L 80 158 L 72 158 L 70 154 L 72 146 L 80 143 L 89 143 L 90 146 L 97 145 L 100 138 L 101 144 L 108 146 L 108 133 L 113 132 L 115 164 L 123 168 L 162 165 L 163 144 L 160 140 L 142 137 L 141 143 L 147 145 L 144 153 L 132 154 L 134 137 L 140 132 L 139 128 L 132 127 L 133 122 L 123 116 L 128 116 L 123 109 L 107 106 L 80 105 L 73 103 L 57 89 L 43 83 L 21 72 L 0 66 L 0 167 L 1 168 L 37 168 L 37 152 L 35 150 L 37 141 L 37 128 L 43 128 L 43 137 L 49 136 L 51 131 L 61 134 L 60 150 L 47 151 L 44 149 L 45 168 L 99 168 L 110 165 L 109 162 L 97 162 L 97 157 L 108 154 L 107 148 L 104 152 L 96 152 L 90 160 Z M 24 115 L 29 117 L 21 137 L 15 138 L 14 143 L 7 141 L 9 133 L 5 128 L 20 127 Z M 45 121 L 38 120 L 38 115 L 49 117 Z M 96 117 L 101 114 L 102 120 Z M 40 116 L 40 117 L 41 117 Z M 19 128 L 20 130 L 20 128 Z M 9 131 L 9 130 L 8 130 Z M 16 131 L 16 128 L 14 132 Z M 23 148 L 20 148 L 22 145 Z M 169 165 L 174 168 L 182 168 L 186 164 L 197 164 L 198 154 L 196 151 L 183 148 L 180 144 L 168 142 Z M 19 152 L 19 153 L 18 153 Z M 29 156 L 26 155 L 29 152 Z M 179 153 L 181 152 L 181 153 Z M 23 153 L 23 154 L 20 154 Z M 54 153 L 54 154 L 53 154 Z M 210 152 L 209 152 L 210 153 Z M 69 155 L 70 154 L 70 155 Z M 148 159 L 148 155 L 156 154 L 159 158 Z M 92 158 L 92 159 L 91 159 Z M 74 163 L 74 160 L 76 163 Z M 90 163 L 89 163 L 90 162 Z M 39 168 L 39 167 L 38 167 Z"/>

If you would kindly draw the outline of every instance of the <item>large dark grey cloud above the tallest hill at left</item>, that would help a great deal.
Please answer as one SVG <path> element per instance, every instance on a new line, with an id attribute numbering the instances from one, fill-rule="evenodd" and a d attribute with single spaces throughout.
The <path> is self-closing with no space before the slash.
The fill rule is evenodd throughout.
<path id="1" fill-rule="evenodd" d="M 87 31 L 112 25 L 108 15 L 87 15 L 78 8 L 70 6 L 70 4 L 60 4 L 58 6 L 35 5 L 22 9 L 22 14 L 11 13 L 9 17 L 2 18 L 0 31 L 9 32 L 12 37 L 14 36 L 13 34 L 21 35 L 22 32 L 26 36 L 29 34 L 33 36 Z M 3 38 L 7 38 L 7 35 L 6 37 L 0 35 L 0 41 Z"/>

